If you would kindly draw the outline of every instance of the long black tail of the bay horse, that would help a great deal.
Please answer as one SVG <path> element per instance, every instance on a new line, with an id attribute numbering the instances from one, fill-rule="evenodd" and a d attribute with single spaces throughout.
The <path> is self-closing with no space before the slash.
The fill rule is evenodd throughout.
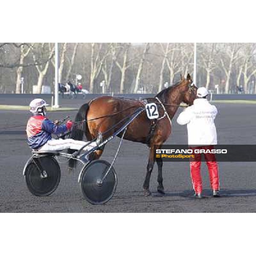
<path id="1" fill-rule="evenodd" d="M 89 103 L 85 103 L 84 105 L 79 108 L 79 111 L 76 114 L 75 122 L 81 122 L 80 124 L 73 125 L 71 129 L 70 139 L 73 140 L 83 140 L 83 135 L 86 132 L 87 129 L 87 112 L 89 109 Z M 68 149 L 68 154 L 73 154 L 76 150 L 74 149 Z M 76 161 L 73 159 L 70 159 L 68 162 L 68 166 L 70 169 L 72 169 L 74 166 L 76 166 Z"/>

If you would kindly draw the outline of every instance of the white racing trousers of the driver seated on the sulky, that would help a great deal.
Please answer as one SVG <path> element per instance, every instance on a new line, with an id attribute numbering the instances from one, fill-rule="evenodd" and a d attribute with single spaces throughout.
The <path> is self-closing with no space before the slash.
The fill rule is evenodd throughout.
<path id="1" fill-rule="evenodd" d="M 75 149 L 79 150 L 82 146 L 87 144 L 88 141 L 81 141 L 81 140 L 73 140 L 73 139 L 52 139 L 48 140 L 47 143 L 45 143 L 41 148 L 38 149 L 38 151 L 58 151 L 63 149 Z M 92 142 L 89 145 L 87 145 L 83 150 L 89 151 L 90 149 L 96 147 L 96 142 Z"/>

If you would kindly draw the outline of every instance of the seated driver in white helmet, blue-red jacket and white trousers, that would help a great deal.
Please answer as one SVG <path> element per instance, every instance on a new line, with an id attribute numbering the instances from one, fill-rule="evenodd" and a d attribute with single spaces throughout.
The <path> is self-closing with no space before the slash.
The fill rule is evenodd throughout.
<path id="1" fill-rule="evenodd" d="M 26 126 L 27 143 L 30 148 L 38 151 L 58 151 L 63 149 L 79 150 L 88 143 L 73 139 L 52 138 L 52 134 L 61 134 L 71 129 L 73 122 L 68 120 L 65 125 L 58 125 L 58 121 L 52 122 L 46 115 L 46 104 L 44 99 L 33 99 L 29 104 L 32 116 Z M 88 151 L 102 143 L 102 136 L 99 134 L 96 142 L 90 143 L 83 150 Z"/>

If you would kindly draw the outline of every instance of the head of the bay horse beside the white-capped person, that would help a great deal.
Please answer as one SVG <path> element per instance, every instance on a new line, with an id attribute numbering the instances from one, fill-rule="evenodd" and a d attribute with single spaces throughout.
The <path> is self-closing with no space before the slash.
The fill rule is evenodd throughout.
<path id="1" fill-rule="evenodd" d="M 187 74 L 186 79 L 180 75 L 180 79 L 181 83 L 184 84 L 182 101 L 191 106 L 196 99 L 196 91 L 198 88 L 195 86 L 195 84 L 192 84 L 193 80 L 189 74 Z"/>

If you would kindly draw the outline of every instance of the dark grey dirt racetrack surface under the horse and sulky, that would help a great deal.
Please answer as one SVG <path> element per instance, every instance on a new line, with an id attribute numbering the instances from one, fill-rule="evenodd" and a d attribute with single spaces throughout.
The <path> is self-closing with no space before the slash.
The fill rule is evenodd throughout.
<path id="1" fill-rule="evenodd" d="M 74 102 L 81 105 L 81 102 Z M 218 116 L 215 124 L 219 144 L 255 144 L 255 105 L 215 104 Z M 71 106 L 71 105 L 70 105 Z M 77 106 L 76 106 L 77 107 Z M 166 144 L 186 144 L 186 126 L 173 119 L 172 135 Z M 50 119 L 61 119 L 76 111 L 52 112 Z M 26 145 L 25 126 L 30 114 L 26 111 L 0 111 L 0 212 L 256 212 L 255 163 L 219 163 L 221 198 L 212 198 L 205 163 L 202 163 L 203 194 L 193 198 L 189 163 L 164 163 L 163 184 L 166 195 L 157 193 L 157 165 L 151 175 L 152 195 L 144 197 L 143 181 L 148 149 L 140 143 L 124 141 L 114 168 L 118 184 L 116 193 L 105 205 L 91 205 L 82 196 L 77 178 L 79 168 L 71 175 L 67 163 L 61 163 L 61 181 L 48 197 L 35 197 L 26 187 L 23 166 L 31 155 Z M 197 131 L 195 131 L 197 132 Z M 198 131 L 199 132 L 199 131 Z M 102 159 L 111 161 L 119 139 L 105 148 Z M 64 159 L 61 159 L 64 162 Z"/>

